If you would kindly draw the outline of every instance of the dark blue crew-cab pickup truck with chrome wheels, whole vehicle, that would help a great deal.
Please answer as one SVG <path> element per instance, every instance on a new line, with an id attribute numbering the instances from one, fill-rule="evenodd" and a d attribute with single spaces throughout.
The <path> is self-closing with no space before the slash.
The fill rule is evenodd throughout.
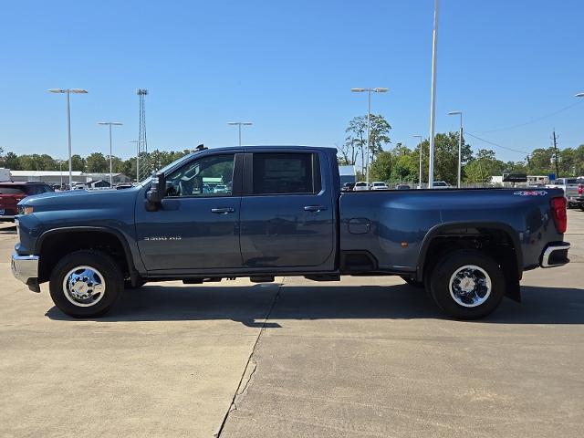
<path id="1" fill-rule="evenodd" d="M 249 277 L 401 276 L 454 318 L 519 300 L 568 263 L 559 189 L 340 191 L 336 150 L 202 149 L 119 191 L 45 193 L 16 216 L 14 275 L 57 308 L 106 313 L 124 287 Z"/>

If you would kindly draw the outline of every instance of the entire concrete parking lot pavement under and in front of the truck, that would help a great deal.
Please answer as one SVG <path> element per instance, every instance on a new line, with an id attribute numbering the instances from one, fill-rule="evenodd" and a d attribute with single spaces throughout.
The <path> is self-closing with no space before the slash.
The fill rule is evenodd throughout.
<path id="1" fill-rule="evenodd" d="M 523 303 L 478 322 L 393 277 L 153 284 L 72 320 L 12 278 L 3 225 L 0 436 L 581 436 L 584 213 L 568 214 L 573 263 L 526 273 Z"/>

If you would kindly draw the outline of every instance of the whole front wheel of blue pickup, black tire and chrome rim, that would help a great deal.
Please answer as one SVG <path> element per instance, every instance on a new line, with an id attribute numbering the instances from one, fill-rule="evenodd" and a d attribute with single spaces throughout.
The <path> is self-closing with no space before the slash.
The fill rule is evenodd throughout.
<path id="1" fill-rule="evenodd" d="M 120 266 L 110 255 L 92 250 L 65 255 L 53 269 L 49 283 L 55 306 L 73 318 L 105 314 L 123 287 Z"/>

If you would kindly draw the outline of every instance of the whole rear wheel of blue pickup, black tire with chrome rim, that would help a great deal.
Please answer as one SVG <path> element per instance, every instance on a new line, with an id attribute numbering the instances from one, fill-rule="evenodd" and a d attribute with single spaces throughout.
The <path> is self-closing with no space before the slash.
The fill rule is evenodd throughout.
<path id="1" fill-rule="evenodd" d="M 458 277 L 454 276 L 463 266 L 477 266 L 479 269 L 467 268 L 460 271 Z M 467 281 L 465 277 L 468 277 L 469 287 L 474 287 L 468 295 L 464 294 L 462 288 L 459 288 L 459 294 L 455 293 L 456 285 L 462 285 L 461 276 L 464 277 L 463 281 Z M 487 281 L 490 281 L 490 289 L 485 286 Z M 436 305 L 457 319 L 485 318 L 505 296 L 505 287 L 503 270 L 493 258 L 480 251 L 465 249 L 444 255 L 433 268 L 429 285 Z"/>

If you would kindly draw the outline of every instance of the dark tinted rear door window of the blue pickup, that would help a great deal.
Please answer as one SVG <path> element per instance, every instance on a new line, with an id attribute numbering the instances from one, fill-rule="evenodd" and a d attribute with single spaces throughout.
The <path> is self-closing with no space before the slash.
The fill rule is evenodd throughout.
<path id="1" fill-rule="evenodd" d="M 254 194 L 320 192 L 315 153 L 255 153 Z"/>

